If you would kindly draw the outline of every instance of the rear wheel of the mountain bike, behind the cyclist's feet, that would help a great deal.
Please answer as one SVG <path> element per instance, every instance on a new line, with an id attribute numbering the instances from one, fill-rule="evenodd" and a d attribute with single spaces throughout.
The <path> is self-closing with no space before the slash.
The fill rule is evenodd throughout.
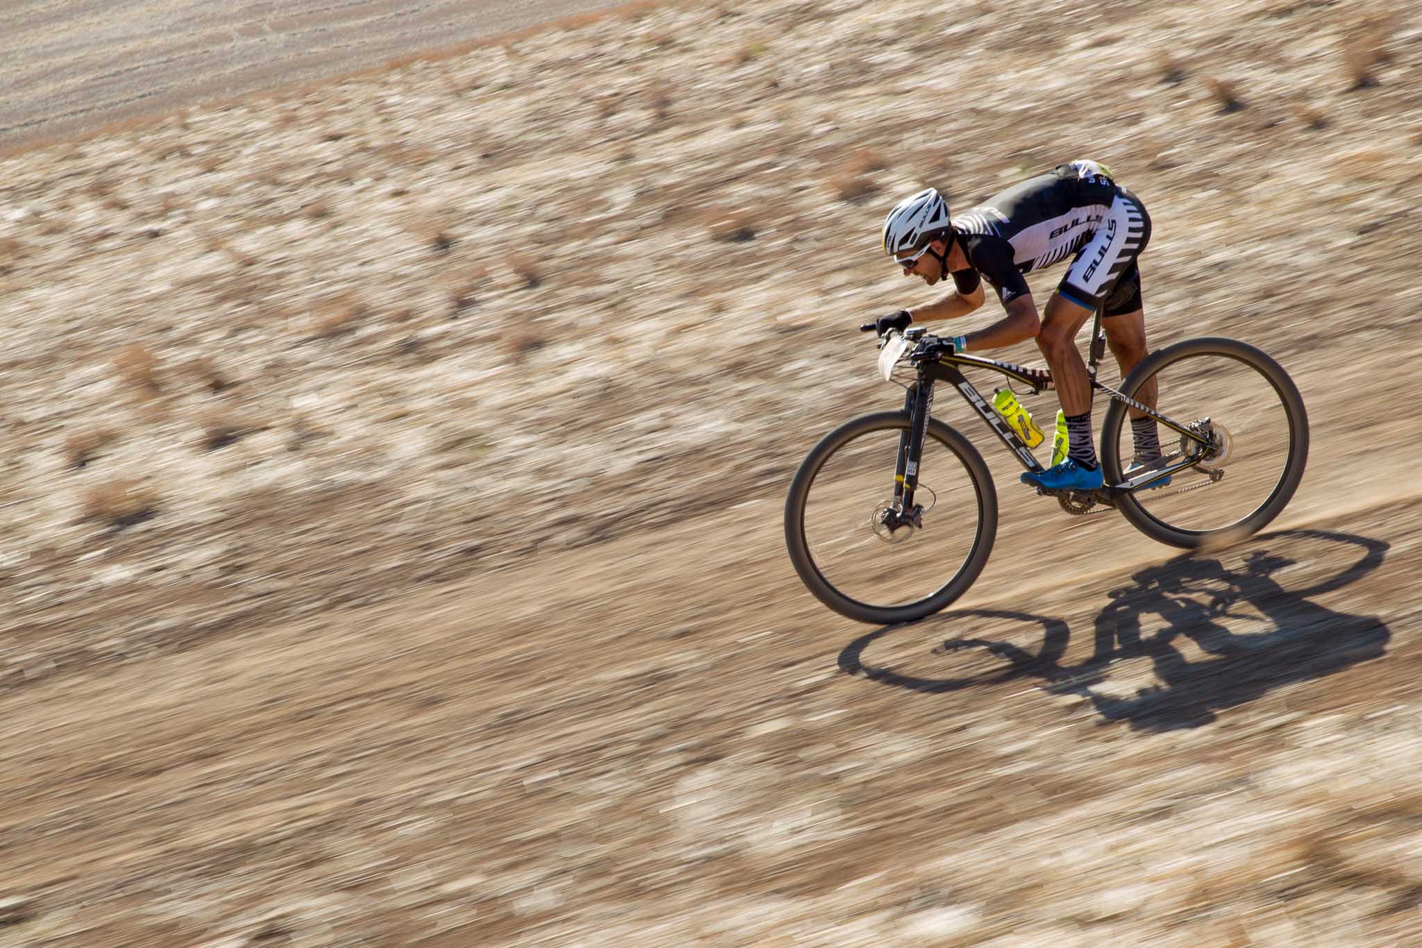
<path id="1" fill-rule="evenodd" d="M 1155 391 L 1152 391 L 1152 387 Z M 1116 497 L 1138 530 L 1193 549 L 1221 537 L 1249 536 L 1283 512 L 1308 460 L 1308 415 L 1288 372 L 1263 351 L 1223 337 L 1176 343 L 1140 360 L 1121 384 L 1136 401 L 1210 441 L 1203 448 L 1158 424 L 1163 460 L 1194 459 L 1170 483 Z M 1101 426 L 1101 463 L 1121 483 L 1135 436 L 1125 402 L 1112 401 Z"/>

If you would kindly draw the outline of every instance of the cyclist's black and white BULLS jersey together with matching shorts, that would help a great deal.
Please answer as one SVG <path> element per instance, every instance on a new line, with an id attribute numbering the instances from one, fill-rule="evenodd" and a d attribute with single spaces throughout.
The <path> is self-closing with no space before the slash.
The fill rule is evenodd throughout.
<path id="1" fill-rule="evenodd" d="M 1136 257 L 1150 240 L 1150 217 L 1098 162 L 1028 178 L 954 215 L 953 229 L 973 267 L 953 274 L 960 291 L 975 290 L 981 273 L 1005 306 L 1030 293 L 1024 273 L 1076 254 L 1058 286 L 1062 296 L 1095 310 L 1111 294 L 1106 316 L 1140 308 Z M 1112 294 L 1116 287 L 1123 293 Z"/>

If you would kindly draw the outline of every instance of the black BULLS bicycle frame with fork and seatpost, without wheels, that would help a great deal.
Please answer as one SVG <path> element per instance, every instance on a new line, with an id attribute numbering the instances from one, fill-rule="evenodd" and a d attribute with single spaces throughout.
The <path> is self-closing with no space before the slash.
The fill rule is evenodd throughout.
<path id="1" fill-rule="evenodd" d="M 1145 412 L 1156 422 L 1179 432 L 1185 438 L 1196 442 L 1204 449 L 1213 448 L 1209 439 L 1202 438 L 1197 432 L 1166 418 L 1153 408 L 1142 405 L 1133 398 L 1118 392 L 1111 385 L 1096 381 L 1096 368 L 1101 365 L 1101 360 L 1106 352 L 1106 334 L 1101 328 L 1101 310 L 1096 311 L 1096 321 L 1092 324 L 1091 333 L 1091 355 L 1086 361 L 1086 378 L 1091 382 L 1092 394 L 1099 388 L 1101 391 L 1111 395 L 1113 399 L 1122 401 L 1130 408 Z M 1014 365 L 1012 362 L 1000 362 L 993 358 L 983 358 L 980 355 L 968 355 L 966 352 L 944 355 L 934 362 L 920 362 L 919 364 L 919 379 L 909 385 L 909 392 L 904 397 L 903 411 L 909 415 L 909 428 L 899 435 L 899 459 L 894 468 L 894 500 L 902 506 L 900 510 L 910 510 L 913 507 L 913 493 L 919 486 L 919 462 L 923 459 L 923 439 L 929 429 L 929 414 L 933 406 L 933 389 L 934 382 L 948 382 L 951 384 L 963 401 L 971 405 L 978 416 L 993 429 L 998 441 L 1003 442 L 1012 455 L 1017 458 L 1018 463 L 1022 465 L 1025 470 L 1042 470 L 1042 465 L 1038 463 L 1032 452 L 1022 443 L 1022 439 L 1017 436 L 1017 432 L 1008 428 L 1003 416 L 983 398 L 981 392 L 973 387 L 973 382 L 963 375 L 958 365 L 971 365 L 975 368 L 987 368 L 994 372 L 1007 375 L 1008 379 L 1022 382 L 1032 388 L 1032 394 L 1054 388 L 1051 374 L 1042 370 L 1024 368 L 1021 365 Z M 1180 463 L 1169 465 L 1160 468 L 1159 470 L 1152 470 L 1143 475 L 1138 475 L 1130 480 L 1119 485 L 1108 486 L 1106 490 L 1135 490 L 1136 488 L 1145 486 L 1162 478 L 1167 478 L 1186 468 L 1193 468 L 1199 462 L 1199 456 L 1187 458 Z"/>

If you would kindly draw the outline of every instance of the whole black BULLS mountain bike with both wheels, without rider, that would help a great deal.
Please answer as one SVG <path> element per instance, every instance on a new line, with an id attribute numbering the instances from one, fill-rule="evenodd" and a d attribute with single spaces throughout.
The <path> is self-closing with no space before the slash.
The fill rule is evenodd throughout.
<path id="1" fill-rule="evenodd" d="M 1280 515 L 1304 476 L 1308 415 L 1277 361 L 1239 340 L 1192 338 L 1146 355 L 1118 391 L 1096 378 L 1105 348 L 1098 311 L 1086 374 L 1092 395 L 1111 397 L 1099 441 L 1105 485 L 1037 493 L 1074 516 L 1115 509 L 1146 536 L 1186 549 L 1249 536 Z M 963 596 L 987 564 L 997 490 L 977 448 L 933 416 L 939 382 L 1022 468 L 1042 470 L 963 370 L 997 372 L 1020 397 L 1054 388 L 1047 370 L 956 352 L 920 327 L 890 331 L 879 341 L 879 374 L 906 389 L 903 408 L 829 432 L 791 480 L 791 561 L 836 613 L 882 625 L 916 621 Z M 1138 401 L 1152 381 L 1155 406 Z M 1132 415 L 1155 418 L 1162 458 L 1133 462 Z"/>

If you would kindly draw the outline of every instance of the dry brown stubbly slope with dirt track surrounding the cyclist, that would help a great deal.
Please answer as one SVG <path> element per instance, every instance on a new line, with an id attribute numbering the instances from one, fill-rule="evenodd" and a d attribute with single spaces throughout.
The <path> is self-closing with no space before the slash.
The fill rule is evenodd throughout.
<path id="1" fill-rule="evenodd" d="M 1369 11 L 663 9 L 0 163 L 0 945 L 1422 944 Z M 1153 343 L 1298 381 L 1300 493 L 1176 556 L 981 442 L 968 597 L 826 613 L 781 503 L 896 404 L 886 206 L 1078 155 Z"/>

